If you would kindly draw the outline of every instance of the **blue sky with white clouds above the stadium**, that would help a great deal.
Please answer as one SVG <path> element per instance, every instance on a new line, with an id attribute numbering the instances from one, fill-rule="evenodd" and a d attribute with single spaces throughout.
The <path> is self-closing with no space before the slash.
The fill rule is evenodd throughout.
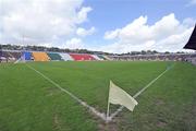
<path id="1" fill-rule="evenodd" d="M 0 44 L 186 51 L 196 0 L 0 0 Z"/>

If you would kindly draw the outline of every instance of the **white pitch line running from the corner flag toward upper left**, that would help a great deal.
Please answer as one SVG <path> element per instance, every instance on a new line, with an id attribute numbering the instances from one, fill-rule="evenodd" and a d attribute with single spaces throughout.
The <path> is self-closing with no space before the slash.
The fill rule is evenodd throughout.
<path id="1" fill-rule="evenodd" d="M 66 91 L 65 88 L 61 87 L 58 83 L 53 82 L 51 79 L 49 79 L 48 76 L 46 76 L 45 74 L 42 74 L 41 72 L 39 72 L 38 70 L 36 70 L 35 68 L 26 64 L 29 69 L 32 69 L 33 71 L 35 71 L 36 73 L 38 73 L 39 75 L 41 75 L 44 79 L 46 79 L 47 81 L 49 81 L 51 84 L 53 84 L 56 87 L 58 87 L 59 90 L 61 90 L 62 92 L 69 94 L 72 98 L 74 98 L 76 102 L 78 102 L 82 106 L 88 108 L 91 112 L 94 112 L 94 115 L 98 116 L 99 118 L 101 118 L 102 120 L 107 120 L 106 119 L 106 115 L 102 112 L 99 112 L 98 110 L 96 110 L 94 107 L 89 106 L 88 104 L 86 104 L 85 102 L 83 102 L 82 99 L 77 98 L 75 95 L 73 95 L 71 92 Z"/>

